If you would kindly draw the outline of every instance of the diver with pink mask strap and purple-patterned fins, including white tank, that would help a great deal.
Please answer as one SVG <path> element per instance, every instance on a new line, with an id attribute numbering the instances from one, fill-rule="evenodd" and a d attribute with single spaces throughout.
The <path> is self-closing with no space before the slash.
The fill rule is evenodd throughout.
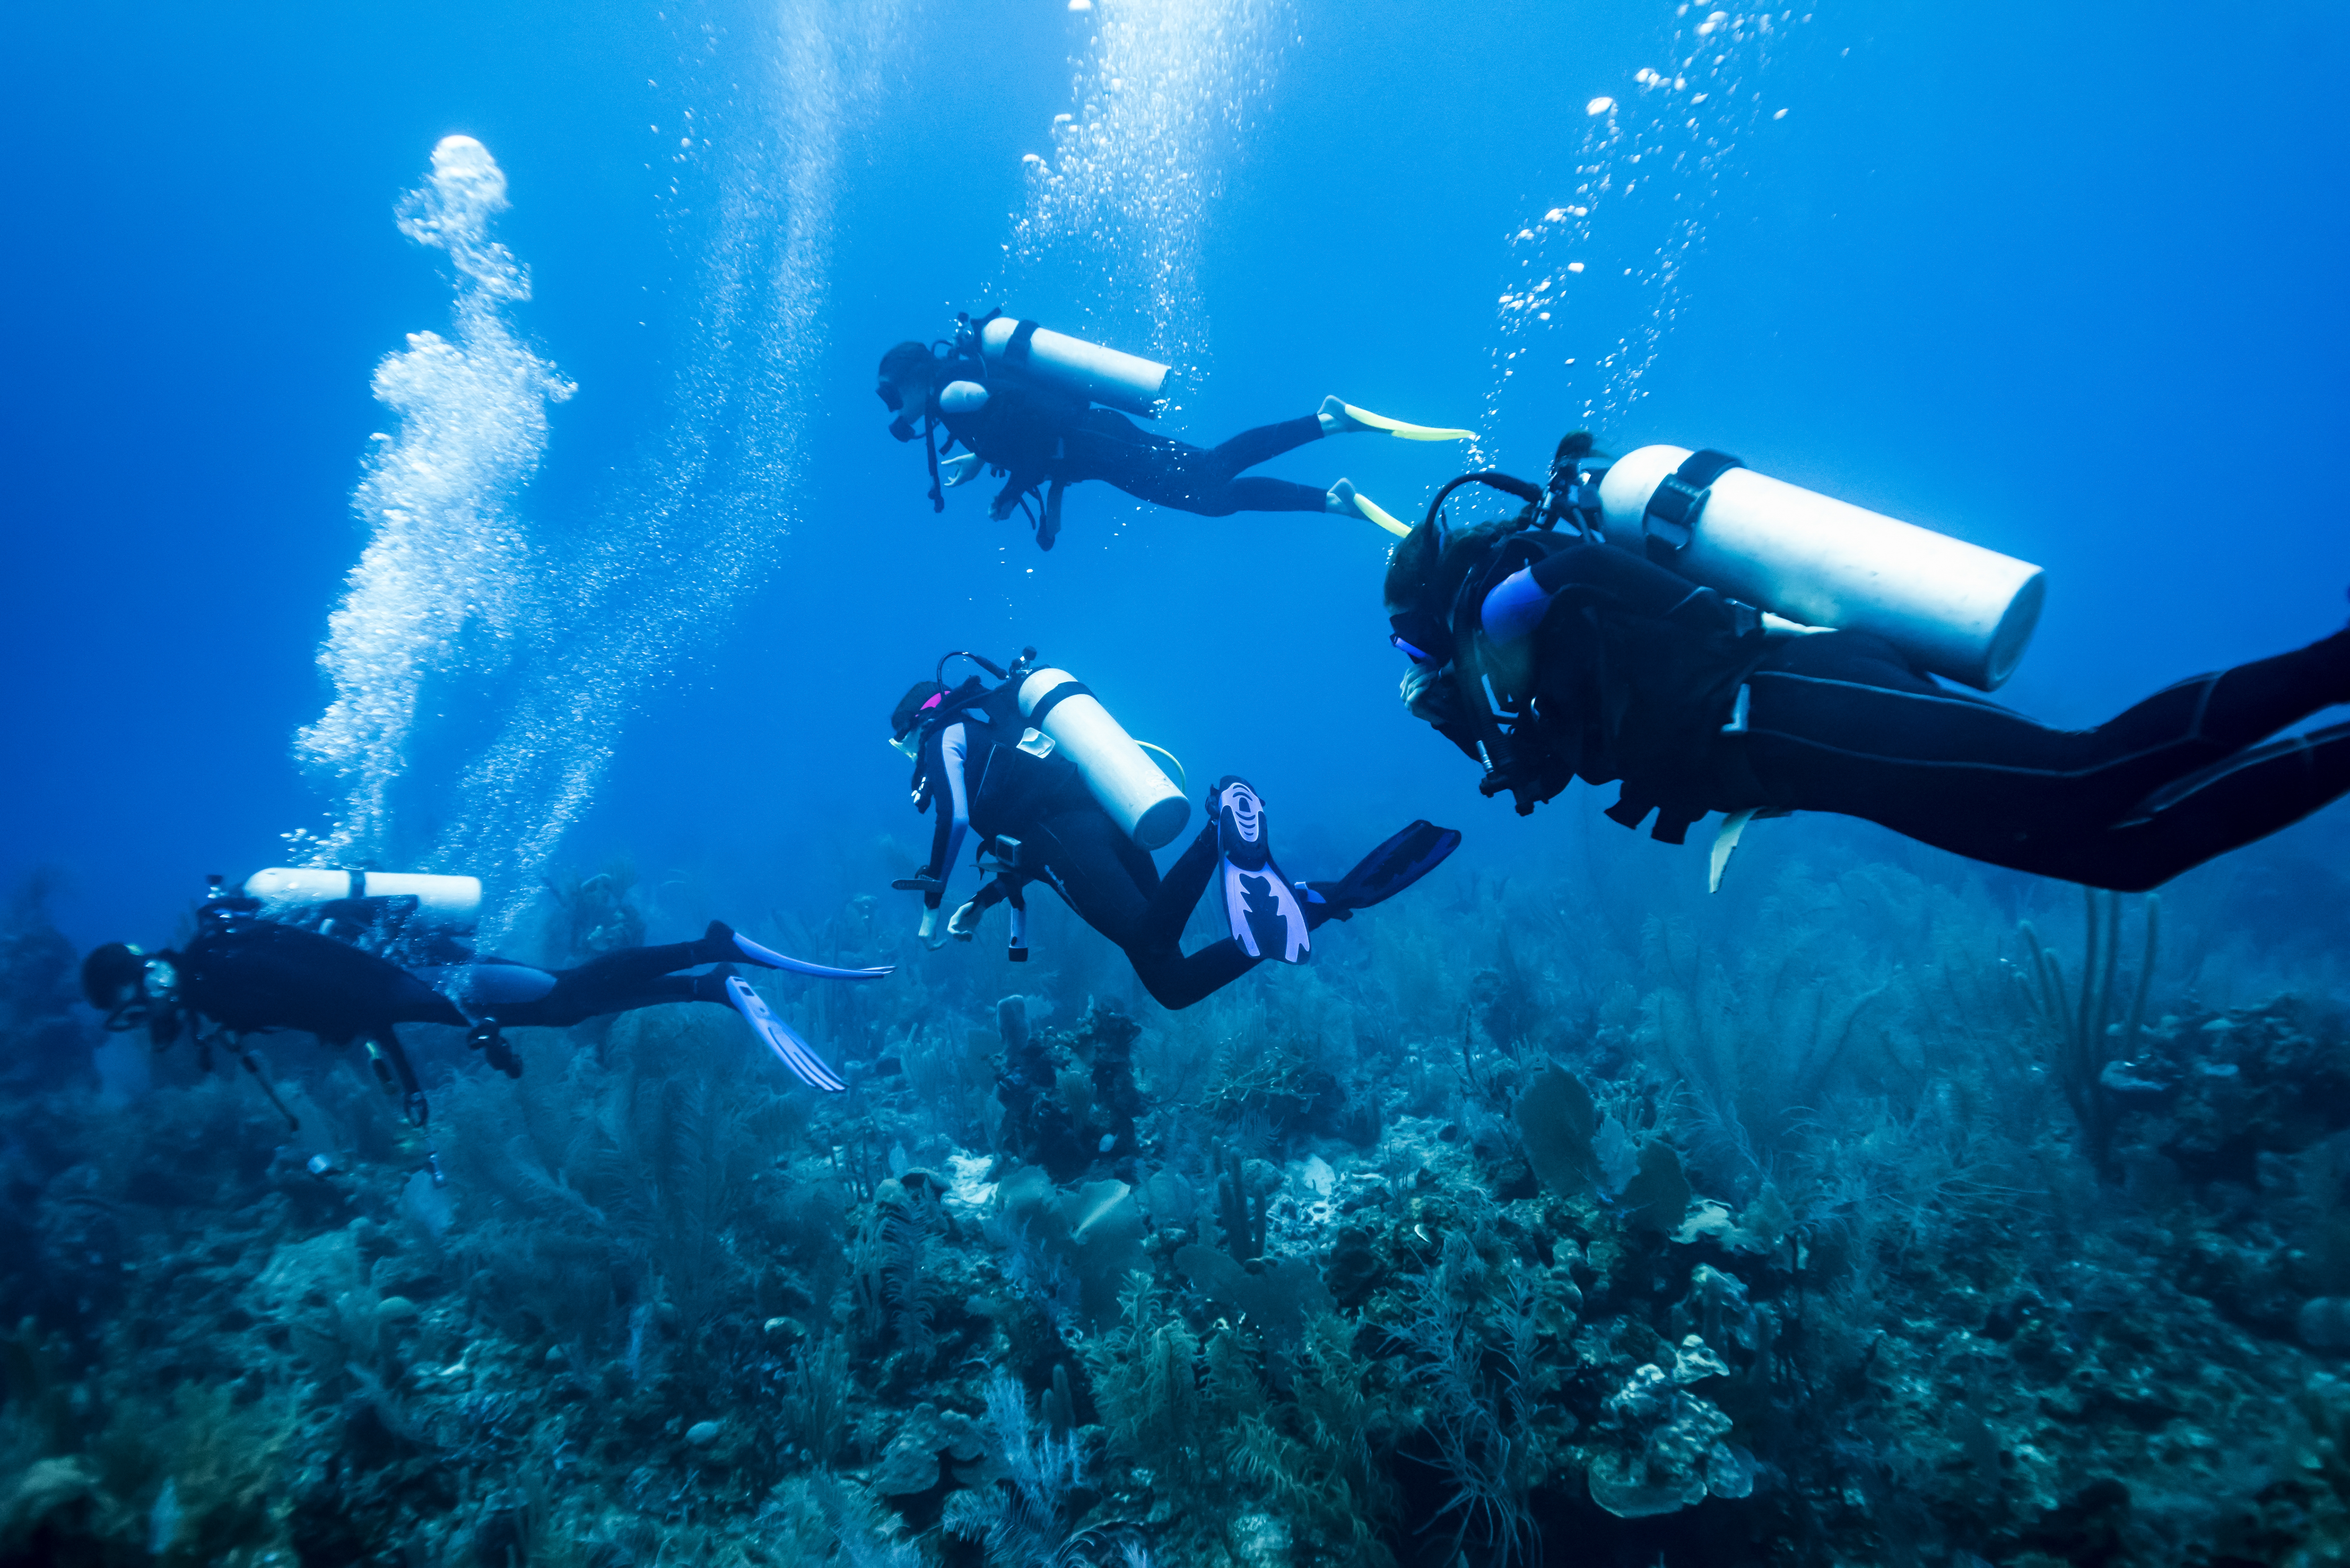
<path id="1" fill-rule="evenodd" d="M 949 658 L 968 658 L 996 686 L 942 684 Z M 1180 1011 L 1231 985 L 1264 959 L 1302 964 L 1311 931 L 1394 898 L 1459 846 L 1450 827 L 1412 823 L 1337 882 L 1290 882 L 1274 863 L 1264 802 L 1227 776 L 1208 790 L 1208 823 L 1166 877 L 1149 851 L 1189 818 L 1189 802 L 1081 682 L 1041 668 L 1025 649 L 1010 670 L 978 654 L 947 654 L 891 712 L 891 745 L 914 762 L 914 809 L 938 813 L 931 863 L 895 886 L 924 896 L 921 936 L 933 947 L 947 879 L 968 835 L 994 872 L 954 910 L 945 936 L 971 940 L 978 919 L 1010 905 L 1013 961 L 1027 959 L 1029 882 L 1043 882 L 1088 926 L 1116 943 L 1142 987 Z M 1173 757 L 1170 757 L 1173 762 Z M 1191 907 L 1222 886 L 1231 936 L 1182 952 Z"/>

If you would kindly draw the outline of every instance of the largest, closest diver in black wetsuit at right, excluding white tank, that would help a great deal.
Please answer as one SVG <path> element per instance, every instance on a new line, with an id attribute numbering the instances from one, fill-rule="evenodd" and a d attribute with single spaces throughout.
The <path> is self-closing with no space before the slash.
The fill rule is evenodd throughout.
<path id="1" fill-rule="evenodd" d="M 1584 454 L 1584 435 L 1560 444 Z M 1441 491 L 1396 545 L 1386 611 L 1412 661 L 1405 703 L 1520 816 L 1572 778 L 1622 780 L 1607 816 L 1638 827 L 1657 811 L 1668 844 L 1708 811 L 1730 825 L 1838 811 L 2136 893 L 2350 790 L 2350 724 L 2270 741 L 2350 703 L 2350 630 L 2178 682 L 2096 729 L 2049 729 L 1939 686 L 1882 637 L 1770 635 L 1753 609 L 1596 534 L 1537 527 L 1551 491 L 1469 477 L 1528 510 L 1445 531 Z"/>

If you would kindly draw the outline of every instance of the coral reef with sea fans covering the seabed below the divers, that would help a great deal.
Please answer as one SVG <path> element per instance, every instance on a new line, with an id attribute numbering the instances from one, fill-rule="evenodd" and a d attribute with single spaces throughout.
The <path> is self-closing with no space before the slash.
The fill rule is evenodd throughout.
<path id="1" fill-rule="evenodd" d="M 26 896 L 0 1566 L 2343 1561 L 2341 1009 L 2150 900 L 1741 898 L 1401 900 L 1180 1016 L 860 900 L 776 931 L 905 964 L 776 990 L 848 1095 L 719 1009 L 414 1030 L 437 1185 L 308 1039 L 298 1131 L 108 1056 Z"/>

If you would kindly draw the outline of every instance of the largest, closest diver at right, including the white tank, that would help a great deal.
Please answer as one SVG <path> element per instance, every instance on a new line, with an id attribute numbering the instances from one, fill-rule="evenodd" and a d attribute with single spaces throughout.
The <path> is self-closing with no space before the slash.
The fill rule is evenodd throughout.
<path id="1" fill-rule="evenodd" d="M 1471 482 L 1525 508 L 1448 527 L 1445 498 Z M 1760 609 L 1697 578 L 1751 585 Z M 1718 451 L 1610 465 L 1584 433 L 1549 484 L 1478 473 L 1441 489 L 1386 571 L 1389 639 L 1412 661 L 1403 701 L 1483 764 L 1483 795 L 1525 816 L 1572 778 L 1622 780 L 1607 816 L 1638 827 L 1654 811 L 1666 844 L 1723 811 L 1716 886 L 1755 816 L 1835 811 L 2138 893 L 2350 790 L 2350 724 L 2270 738 L 2350 703 L 2350 630 L 2082 731 L 1934 679 L 1998 686 L 2037 609 L 2023 562 Z M 1814 630 L 1831 618 L 1842 630 Z"/>

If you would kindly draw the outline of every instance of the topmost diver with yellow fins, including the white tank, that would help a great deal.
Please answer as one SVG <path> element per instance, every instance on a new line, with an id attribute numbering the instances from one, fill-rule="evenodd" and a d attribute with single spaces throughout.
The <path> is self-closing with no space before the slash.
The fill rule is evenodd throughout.
<path id="1" fill-rule="evenodd" d="M 928 442 L 931 510 L 945 510 L 942 491 L 975 480 L 980 468 L 1006 475 L 987 508 L 996 522 L 1010 517 L 1013 508 L 1029 512 L 1029 496 L 1041 491 L 1041 510 L 1029 512 L 1039 550 L 1050 550 L 1060 534 L 1062 491 L 1086 480 L 1104 480 L 1137 501 L 1201 517 L 1328 512 L 1361 517 L 1401 536 L 1408 529 L 1349 480 L 1323 491 L 1243 470 L 1325 435 L 1384 433 L 1410 442 L 1473 435 L 1408 425 L 1325 397 L 1318 414 L 1243 430 L 1220 447 L 1191 447 L 1152 435 L 1116 411 L 1156 414 L 1166 364 L 1046 331 L 1036 322 L 1015 322 L 1001 310 L 989 310 L 978 322 L 968 315 L 956 320 L 961 324 L 952 343 L 909 341 L 881 355 L 877 390 L 895 414 L 891 435 L 900 442 Z M 954 444 L 966 451 L 942 461 L 940 430 L 947 451 Z"/>

